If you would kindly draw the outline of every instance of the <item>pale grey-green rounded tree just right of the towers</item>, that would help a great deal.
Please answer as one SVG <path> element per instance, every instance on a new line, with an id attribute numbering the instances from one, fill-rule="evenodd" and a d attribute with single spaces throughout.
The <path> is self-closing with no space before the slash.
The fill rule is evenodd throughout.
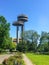
<path id="1" fill-rule="evenodd" d="M 34 30 L 25 31 L 23 33 L 23 39 L 31 42 L 28 45 L 28 48 L 33 51 L 36 51 L 37 49 L 38 38 L 39 38 L 39 34 Z"/>

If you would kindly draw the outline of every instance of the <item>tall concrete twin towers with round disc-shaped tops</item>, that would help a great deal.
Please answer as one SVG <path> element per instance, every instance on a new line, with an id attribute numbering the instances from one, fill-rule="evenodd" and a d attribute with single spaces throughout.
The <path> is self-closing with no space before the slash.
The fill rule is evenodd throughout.
<path id="1" fill-rule="evenodd" d="M 18 38 L 18 31 L 19 31 L 19 26 L 21 26 L 21 32 L 23 34 L 24 31 L 24 22 L 28 21 L 28 17 L 24 14 L 21 14 L 17 17 L 17 21 L 13 23 L 14 26 L 17 26 L 17 43 L 19 43 L 19 38 Z M 22 43 L 23 43 L 23 35 L 22 35 Z"/>

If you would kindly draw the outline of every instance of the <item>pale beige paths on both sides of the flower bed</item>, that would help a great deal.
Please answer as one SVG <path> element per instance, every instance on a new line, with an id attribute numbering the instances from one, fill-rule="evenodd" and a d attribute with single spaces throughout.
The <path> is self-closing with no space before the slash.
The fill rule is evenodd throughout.
<path id="1" fill-rule="evenodd" d="M 0 55 L 0 64 L 2 64 L 4 59 L 8 59 L 10 56 L 14 56 L 14 54 Z M 32 62 L 27 58 L 25 54 L 22 54 L 22 56 L 23 56 L 23 61 L 24 61 L 23 65 L 33 65 Z"/>

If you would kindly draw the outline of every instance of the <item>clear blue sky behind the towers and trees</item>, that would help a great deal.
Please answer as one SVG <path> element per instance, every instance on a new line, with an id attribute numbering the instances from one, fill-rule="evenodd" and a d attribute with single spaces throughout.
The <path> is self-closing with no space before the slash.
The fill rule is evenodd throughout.
<path id="1" fill-rule="evenodd" d="M 36 30 L 39 34 L 41 31 L 49 32 L 49 0 L 1 0 L 0 15 L 11 25 L 11 37 L 16 37 L 16 27 L 12 23 L 19 14 L 28 16 L 25 30 Z"/>

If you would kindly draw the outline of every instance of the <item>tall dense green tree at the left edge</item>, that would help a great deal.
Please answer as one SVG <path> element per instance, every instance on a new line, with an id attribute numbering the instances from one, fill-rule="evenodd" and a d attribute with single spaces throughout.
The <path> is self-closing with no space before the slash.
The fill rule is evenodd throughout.
<path id="1" fill-rule="evenodd" d="M 6 49 L 9 43 L 10 24 L 5 17 L 0 16 L 0 48 Z"/>

